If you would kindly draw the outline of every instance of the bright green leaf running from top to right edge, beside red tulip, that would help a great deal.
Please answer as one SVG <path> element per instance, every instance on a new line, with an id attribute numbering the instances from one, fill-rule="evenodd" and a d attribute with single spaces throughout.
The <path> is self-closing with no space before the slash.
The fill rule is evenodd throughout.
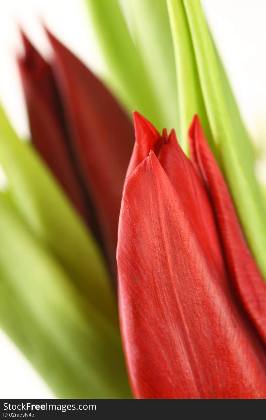
<path id="1" fill-rule="evenodd" d="M 205 108 L 221 167 L 250 249 L 266 278 L 266 212 L 253 170 L 253 157 L 248 138 L 242 133 L 229 87 L 226 86 L 221 65 L 217 62 L 200 2 L 184 0 L 184 6 L 190 25 Z M 233 121 L 234 118 L 236 121 Z"/>

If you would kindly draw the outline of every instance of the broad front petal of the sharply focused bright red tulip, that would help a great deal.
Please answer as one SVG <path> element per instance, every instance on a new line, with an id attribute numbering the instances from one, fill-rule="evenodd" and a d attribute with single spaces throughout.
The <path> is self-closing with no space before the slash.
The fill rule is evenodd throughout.
<path id="1" fill-rule="evenodd" d="M 265 398 L 261 360 L 234 318 L 157 158 L 126 180 L 119 307 L 136 398 Z"/>

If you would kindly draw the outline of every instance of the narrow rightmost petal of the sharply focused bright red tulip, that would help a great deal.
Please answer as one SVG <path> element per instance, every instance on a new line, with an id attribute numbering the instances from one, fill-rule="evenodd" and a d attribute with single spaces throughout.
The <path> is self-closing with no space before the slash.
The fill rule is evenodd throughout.
<path id="1" fill-rule="evenodd" d="M 234 205 L 197 116 L 189 131 L 190 154 L 210 195 L 232 282 L 266 344 L 266 285 L 250 254 Z"/>

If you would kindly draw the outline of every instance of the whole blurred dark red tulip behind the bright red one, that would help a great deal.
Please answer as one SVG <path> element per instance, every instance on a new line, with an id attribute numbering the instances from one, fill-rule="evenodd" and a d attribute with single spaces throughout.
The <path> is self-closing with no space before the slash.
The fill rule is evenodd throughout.
<path id="1" fill-rule="evenodd" d="M 25 56 L 18 58 L 32 142 L 102 244 L 115 275 L 133 126 L 103 84 L 47 34 L 55 53 L 51 65 L 24 34 Z"/>

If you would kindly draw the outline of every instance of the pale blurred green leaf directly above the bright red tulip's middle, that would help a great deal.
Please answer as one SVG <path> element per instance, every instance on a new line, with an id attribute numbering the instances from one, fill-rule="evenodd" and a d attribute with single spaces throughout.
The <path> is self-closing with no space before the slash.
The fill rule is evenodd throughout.
<path id="1" fill-rule="evenodd" d="M 163 126 L 178 133 L 174 47 L 162 0 L 120 0 L 137 52 L 152 84 Z M 161 129 L 159 127 L 158 129 Z"/>

